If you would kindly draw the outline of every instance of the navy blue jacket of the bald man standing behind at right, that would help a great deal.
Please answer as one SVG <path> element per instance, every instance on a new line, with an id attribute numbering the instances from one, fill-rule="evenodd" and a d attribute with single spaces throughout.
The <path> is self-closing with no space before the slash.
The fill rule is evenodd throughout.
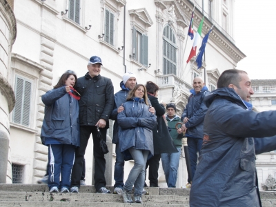
<path id="1" fill-rule="evenodd" d="M 192 95 L 188 99 L 186 108 L 181 115 L 181 120 L 185 117 L 189 118 L 189 121 L 185 124 L 188 130 L 186 131 L 187 137 L 203 138 L 203 121 L 207 112 L 207 107 L 203 101 L 205 95 L 209 93 L 208 88 L 204 86 L 199 93 L 195 93 L 195 90 L 190 90 Z"/>

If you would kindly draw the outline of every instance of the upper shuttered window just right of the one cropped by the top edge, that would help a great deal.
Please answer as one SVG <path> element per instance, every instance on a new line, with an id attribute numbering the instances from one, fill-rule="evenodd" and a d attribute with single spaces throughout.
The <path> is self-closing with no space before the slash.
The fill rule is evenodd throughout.
<path id="1" fill-rule="evenodd" d="M 114 46 L 114 17 L 109 10 L 106 10 L 106 21 L 104 26 L 104 40 Z"/>

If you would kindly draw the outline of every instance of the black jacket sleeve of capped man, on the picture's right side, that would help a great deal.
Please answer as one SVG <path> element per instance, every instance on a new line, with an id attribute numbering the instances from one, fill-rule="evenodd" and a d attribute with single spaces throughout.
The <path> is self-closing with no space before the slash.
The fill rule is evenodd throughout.
<path id="1" fill-rule="evenodd" d="M 106 104 L 100 119 L 108 121 L 114 106 L 114 87 L 110 79 L 107 79 L 106 85 Z"/>

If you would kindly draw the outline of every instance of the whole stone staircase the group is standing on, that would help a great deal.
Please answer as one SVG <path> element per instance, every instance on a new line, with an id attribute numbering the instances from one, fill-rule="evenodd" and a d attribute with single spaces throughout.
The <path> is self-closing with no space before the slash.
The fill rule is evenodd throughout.
<path id="1" fill-rule="evenodd" d="M 108 186 L 113 192 L 113 187 Z M 49 193 L 45 184 L 0 184 L 0 206 L 189 206 L 188 188 L 148 188 L 143 204 L 124 204 L 121 195 L 98 194 L 94 186 L 81 186 L 79 193 Z M 262 191 L 264 207 L 276 206 L 276 192 Z"/>

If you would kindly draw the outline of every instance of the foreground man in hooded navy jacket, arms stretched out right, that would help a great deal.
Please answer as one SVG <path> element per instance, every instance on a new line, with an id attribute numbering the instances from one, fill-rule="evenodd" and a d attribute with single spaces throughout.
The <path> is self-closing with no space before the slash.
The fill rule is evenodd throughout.
<path id="1" fill-rule="evenodd" d="M 276 149 L 276 111 L 250 110 L 254 92 L 243 70 L 225 70 L 217 88 L 204 98 L 208 112 L 190 206 L 262 206 L 255 154 Z"/>

